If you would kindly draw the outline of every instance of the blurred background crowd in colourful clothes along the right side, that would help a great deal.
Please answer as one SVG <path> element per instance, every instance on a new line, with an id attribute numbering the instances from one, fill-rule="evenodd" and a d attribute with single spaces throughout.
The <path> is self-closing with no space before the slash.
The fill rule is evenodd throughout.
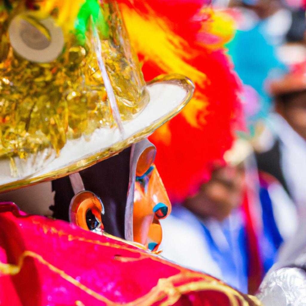
<path id="1" fill-rule="evenodd" d="M 216 0 L 235 20 L 228 55 L 245 131 L 198 193 L 163 220 L 163 256 L 244 293 L 306 247 L 306 20 L 299 0 Z"/>

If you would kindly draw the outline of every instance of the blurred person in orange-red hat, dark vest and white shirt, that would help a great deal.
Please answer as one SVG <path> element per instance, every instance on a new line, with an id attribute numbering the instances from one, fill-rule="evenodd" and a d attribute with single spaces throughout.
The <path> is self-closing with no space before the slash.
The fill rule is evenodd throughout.
<path id="1" fill-rule="evenodd" d="M 257 155 L 259 170 L 281 183 L 299 215 L 306 207 L 305 67 L 305 62 L 295 64 L 281 79 L 270 82 L 276 110 L 271 122 L 276 137 L 269 150 Z"/>

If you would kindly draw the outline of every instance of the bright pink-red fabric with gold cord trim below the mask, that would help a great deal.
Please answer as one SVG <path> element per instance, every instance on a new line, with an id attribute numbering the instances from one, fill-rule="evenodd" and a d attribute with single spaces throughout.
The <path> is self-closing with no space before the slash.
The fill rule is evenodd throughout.
<path id="1" fill-rule="evenodd" d="M 200 301 L 208 306 L 216 301 L 230 305 L 229 297 L 247 299 L 215 278 L 123 241 L 64 221 L 21 215 L 13 203 L 0 203 L 2 306 L 181 306 Z"/>

